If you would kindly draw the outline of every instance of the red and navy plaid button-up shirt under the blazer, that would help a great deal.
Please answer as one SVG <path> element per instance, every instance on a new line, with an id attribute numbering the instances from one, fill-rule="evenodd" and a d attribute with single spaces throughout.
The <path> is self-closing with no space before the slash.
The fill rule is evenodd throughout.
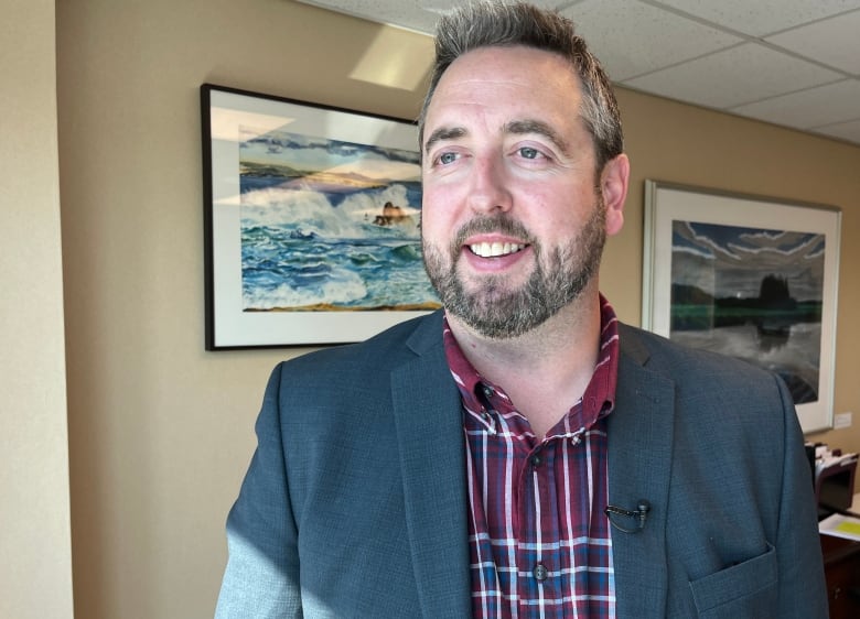
<path id="1" fill-rule="evenodd" d="M 615 617 L 603 512 L 605 417 L 614 408 L 619 358 L 612 306 L 601 296 L 600 356 L 591 382 L 542 442 L 502 388 L 465 359 L 447 322 L 444 343 L 464 410 L 472 616 Z"/>

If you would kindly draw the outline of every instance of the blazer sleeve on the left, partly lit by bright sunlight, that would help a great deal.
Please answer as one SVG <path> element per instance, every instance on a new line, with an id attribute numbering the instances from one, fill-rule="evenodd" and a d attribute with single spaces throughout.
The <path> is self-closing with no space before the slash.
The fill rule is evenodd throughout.
<path id="1" fill-rule="evenodd" d="M 297 528 L 281 438 L 279 365 L 257 417 L 257 449 L 227 518 L 228 561 L 216 619 L 302 617 Z"/>

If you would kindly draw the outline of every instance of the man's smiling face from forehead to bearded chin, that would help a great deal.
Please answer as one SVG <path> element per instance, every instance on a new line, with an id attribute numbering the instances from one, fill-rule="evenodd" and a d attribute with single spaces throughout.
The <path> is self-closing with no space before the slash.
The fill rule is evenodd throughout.
<path id="1" fill-rule="evenodd" d="M 432 97 L 424 264 L 448 311 L 486 337 L 522 335 L 576 300 L 621 228 L 579 107 L 566 61 L 520 46 L 461 56 Z"/>

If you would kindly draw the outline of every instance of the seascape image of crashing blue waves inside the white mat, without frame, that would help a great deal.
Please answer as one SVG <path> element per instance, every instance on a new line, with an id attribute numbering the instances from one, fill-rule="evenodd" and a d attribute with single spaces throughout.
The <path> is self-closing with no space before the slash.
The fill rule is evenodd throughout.
<path id="1" fill-rule="evenodd" d="M 428 311 L 418 152 L 240 127 L 244 312 Z"/>

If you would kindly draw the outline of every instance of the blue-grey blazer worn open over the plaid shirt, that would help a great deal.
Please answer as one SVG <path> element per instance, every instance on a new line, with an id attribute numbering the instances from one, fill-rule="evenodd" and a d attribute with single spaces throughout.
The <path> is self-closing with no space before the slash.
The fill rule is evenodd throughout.
<path id="1" fill-rule="evenodd" d="M 441 333 L 436 313 L 275 369 L 216 617 L 470 616 L 461 403 Z M 639 533 L 612 529 L 617 617 L 827 617 L 784 384 L 626 326 L 619 372 L 610 502 L 652 510 Z"/>

